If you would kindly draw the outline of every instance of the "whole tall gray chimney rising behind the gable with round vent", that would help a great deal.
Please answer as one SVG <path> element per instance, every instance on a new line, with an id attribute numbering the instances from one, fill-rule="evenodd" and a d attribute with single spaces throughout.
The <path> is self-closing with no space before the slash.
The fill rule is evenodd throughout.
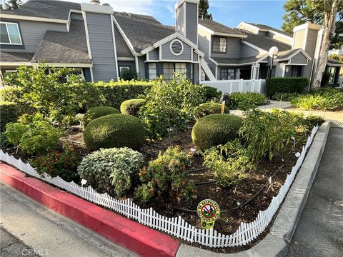
<path id="1" fill-rule="evenodd" d="M 175 4 L 176 30 L 197 45 L 199 0 L 179 0 Z"/>

